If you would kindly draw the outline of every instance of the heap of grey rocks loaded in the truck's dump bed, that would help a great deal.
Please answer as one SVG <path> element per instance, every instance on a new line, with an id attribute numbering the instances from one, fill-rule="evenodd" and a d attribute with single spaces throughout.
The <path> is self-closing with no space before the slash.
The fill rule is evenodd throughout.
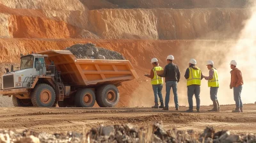
<path id="1" fill-rule="evenodd" d="M 96 45 L 93 43 L 76 44 L 72 45 L 71 47 L 67 47 L 65 50 L 70 50 L 70 52 L 72 52 L 77 59 L 125 59 L 122 54 L 96 47 Z"/>

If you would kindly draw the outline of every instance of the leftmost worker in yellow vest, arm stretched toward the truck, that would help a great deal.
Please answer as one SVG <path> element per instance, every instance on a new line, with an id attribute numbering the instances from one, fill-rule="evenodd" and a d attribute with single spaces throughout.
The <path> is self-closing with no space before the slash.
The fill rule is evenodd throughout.
<path id="1" fill-rule="evenodd" d="M 163 89 L 163 78 L 159 77 L 157 75 L 157 71 L 163 70 L 161 66 L 159 66 L 158 60 L 156 58 L 151 59 L 152 63 L 152 70 L 150 71 L 150 75 L 145 75 L 146 77 L 149 77 L 151 79 L 151 84 L 154 91 L 154 98 L 155 98 L 155 105 L 152 106 L 154 109 L 158 108 L 164 108 L 164 101 L 163 101 L 163 95 L 162 95 L 162 89 Z M 159 97 L 161 105 L 158 106 L 158 98 Z"/>

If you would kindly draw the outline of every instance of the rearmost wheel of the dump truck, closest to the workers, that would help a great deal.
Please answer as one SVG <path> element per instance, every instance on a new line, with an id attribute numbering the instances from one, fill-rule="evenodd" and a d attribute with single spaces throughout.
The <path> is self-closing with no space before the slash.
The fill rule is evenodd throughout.
<path id="1" fill-rule="evenodd" d="M 96 101 L 100 107 L 115 107 L 119 98 L 119 91 L 113 84 L 107 84 L 97 89 Z"/>

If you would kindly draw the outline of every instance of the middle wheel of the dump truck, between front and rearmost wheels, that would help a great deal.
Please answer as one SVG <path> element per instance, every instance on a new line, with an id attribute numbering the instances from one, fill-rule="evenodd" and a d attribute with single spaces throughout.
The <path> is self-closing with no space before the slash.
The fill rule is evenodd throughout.
<path id="1" fill-rule="evenodd" d="M 76 107 L 93 107 L 95 104 L 95 93 L 92 89 L 80 89 L 76 93 Z"/>

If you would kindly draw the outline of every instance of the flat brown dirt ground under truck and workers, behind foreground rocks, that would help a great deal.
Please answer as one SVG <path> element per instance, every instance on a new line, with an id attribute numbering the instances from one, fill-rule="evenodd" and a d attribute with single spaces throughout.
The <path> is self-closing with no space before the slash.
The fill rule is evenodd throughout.
<path id="1" fill-rule="evenodd" d="M 100 124 L 126 124 L 148 126 L 154 121 L 163 121 L 164 128 L 195 130 L 202 132 L 205 126 L 232 133 L 256 133 L 256 105 L 244 105 L 243 113 L 232 113 L 234 105 L 222 105 L 221 112 L 207 112 L 211 106 L 201 107 L 200 113 L 186 113 L 187 107 L 177 112 L 151 108 L 38 108 L 1 107 L 0 128 L 35 130 L 36 132 L 66 133 L 84 132 Z M 253 127 L 254 126 L 254 127 Z"/>

